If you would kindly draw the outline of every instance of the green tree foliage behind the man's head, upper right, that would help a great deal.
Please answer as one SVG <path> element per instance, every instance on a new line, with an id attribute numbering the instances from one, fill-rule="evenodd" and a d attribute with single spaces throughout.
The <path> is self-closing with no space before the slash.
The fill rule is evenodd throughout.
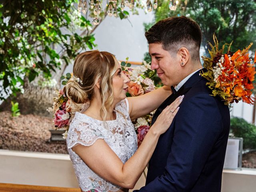
<path id="1" fill-rule="evenodd" d="M 153 23 L 172 16 L 188 16 L 200 25 L 203 34 L 202 46 L 208 52 L 208 41 L 213 44 L 215 33 L 221 45 L 232 44 L 232 49 L 243 49 L 256 42 L 256 2 L 252 0 L 185 0 L 180 1 L 176 11 L 170 11 L 169 1 L 158 0 Z M 152 23 L 145 24 L 147 30 Z M 256 48 L 254 43 L 252 49 Z"/>

